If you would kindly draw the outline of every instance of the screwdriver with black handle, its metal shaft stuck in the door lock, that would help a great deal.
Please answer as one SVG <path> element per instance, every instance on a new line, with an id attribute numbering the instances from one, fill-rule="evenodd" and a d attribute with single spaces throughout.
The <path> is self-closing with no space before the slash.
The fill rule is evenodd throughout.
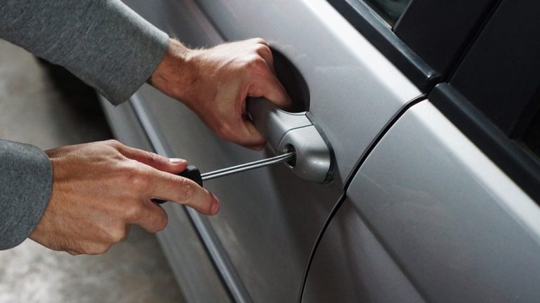
<path id="1" fill-rule="evenodd" d="M 229 168 L 214 170 L 209 173 L 203 173 L 203 174 L 201 174 L 199 169 L 196 168 L 195 166 L 188 166 L 183 172 L 179 173 L 178 175 L 180 177 L 185 177 L 185 178 L 188 178 L 189 180 L 193 180 L 195 183 L 199 184 L 202 187 L 203 181 L 217 179 L 219 177 L 225 177 L 226 175 L 235 175 L 237 173 L 242 173 L 247 170 L 263 168 L 266 166 L 271 166 L 273 164 L 285 163 L 288 161 L 294 162 L 295 156 L 296 156 L 295 152 L 290 152 L 287 154 L 274 156 L 268 159 L 262 159 L 259 161 L 253 161 L 250 163 L 240 164 L 238 166 L 231 166 Z M 167 202 L 165 200 L 160 200 L 160 199 L 152 199 L 152 201 L 156 203 L 160 203 L 160 204 Z"/>

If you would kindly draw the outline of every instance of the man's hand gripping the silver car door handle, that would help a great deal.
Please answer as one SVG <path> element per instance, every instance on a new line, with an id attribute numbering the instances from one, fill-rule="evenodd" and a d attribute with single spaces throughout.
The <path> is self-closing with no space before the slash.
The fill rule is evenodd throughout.
<path id="1" fill-rule="evenodd" d="M 169 50 L 151 83 L 184 102 L 222 139 L 262 149 L 264 137 L 248 119 L 246 97 L 265 97 L 281 108 L 290 97 L 274 74 L 274 59 L 263 39 L 190 50 L 169 40 Z"/>

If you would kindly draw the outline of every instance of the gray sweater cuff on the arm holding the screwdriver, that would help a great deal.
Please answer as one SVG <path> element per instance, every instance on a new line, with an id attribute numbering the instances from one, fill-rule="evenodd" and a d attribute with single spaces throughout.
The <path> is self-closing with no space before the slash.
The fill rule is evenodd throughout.
<path id="1" fill-rule="evenodd" d="M 53 171 L 37 147 L 0 140 L 0 250 L 30 235 L 49 203 Z"/>

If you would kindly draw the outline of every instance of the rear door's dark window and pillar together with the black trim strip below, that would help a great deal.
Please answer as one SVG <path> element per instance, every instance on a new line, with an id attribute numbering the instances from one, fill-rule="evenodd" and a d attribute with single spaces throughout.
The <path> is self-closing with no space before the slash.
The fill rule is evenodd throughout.
<path id="1" fill-rule="evenodd" d="M 449 79 L 453 100 L 430 101 L 540 203 L 539 13 L 539 1 L 501 1 Z"/>

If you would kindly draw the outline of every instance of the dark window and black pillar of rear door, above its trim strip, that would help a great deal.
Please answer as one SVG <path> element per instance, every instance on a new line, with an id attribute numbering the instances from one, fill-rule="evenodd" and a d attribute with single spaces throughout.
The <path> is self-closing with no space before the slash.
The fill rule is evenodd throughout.
<path id="1" fill-rule="evenodd" d="M 539 4 L 503 1 L 450 81 L 506 137 L 533 154 L 538 154 L 540 43 L 523 37 L 540 34 L 539 12 Z"/>

